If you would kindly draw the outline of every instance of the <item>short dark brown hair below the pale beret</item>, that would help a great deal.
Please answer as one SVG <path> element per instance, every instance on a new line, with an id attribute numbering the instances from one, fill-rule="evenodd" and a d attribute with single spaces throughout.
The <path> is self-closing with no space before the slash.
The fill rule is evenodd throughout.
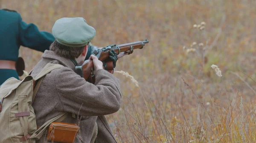
<path id="1" fill-rule="evenodd" d="M 56 40 L 50 45 L 50 50 L 54 51 L 57 55 L 67 59 L 78 58 L 84 50 L 82 47 L 69 47 L 58 43 Z"/>

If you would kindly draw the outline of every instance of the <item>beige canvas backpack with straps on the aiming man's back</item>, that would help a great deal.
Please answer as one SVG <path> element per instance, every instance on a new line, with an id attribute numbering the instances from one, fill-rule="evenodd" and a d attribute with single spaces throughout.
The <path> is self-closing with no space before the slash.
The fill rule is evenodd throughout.
<path id="1" fill-rule="evenodd" d="M 0 143 L 35 143 L 44 135 L 50 123 L 65 118 L 66 114 L 62 113 L 38 129 L 32 107 L 44 76 L 61 67 L 64 66 L 48 63 L 35 79 L 30 75 L 22 81 L 10 78 L 0 86 Z"/>

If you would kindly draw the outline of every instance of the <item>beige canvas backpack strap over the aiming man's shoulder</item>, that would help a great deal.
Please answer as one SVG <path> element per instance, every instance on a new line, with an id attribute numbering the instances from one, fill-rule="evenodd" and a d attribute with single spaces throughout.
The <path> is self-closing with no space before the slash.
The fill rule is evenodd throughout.
<path id="1" fill-rule="evenodd" d="M 35 81 L 37 81 L 37 83 L 35 82 L 35 88 L 34 88 L 34 92 L 33 92 L 33 96 L 32 96 L 32 102 L 34 101 L 35 99 L 35 95 L 36 93 L 38 92 L 38 89 L 40 87 L 40 84 L 41 82 L 43 81 L 44 79 L 44 76 L 47 74 L 47 73 L 50 73 L 52 70 L 54 69 L 57 69 L 57 68 L 61 68 L 61 67 L 64 67 L 63 65 L 61 64 L 51 64 L 51 63 L 48 63 L 44 66 L 44 68 L 38 73 L 38 75 L 35 77 Z"/>

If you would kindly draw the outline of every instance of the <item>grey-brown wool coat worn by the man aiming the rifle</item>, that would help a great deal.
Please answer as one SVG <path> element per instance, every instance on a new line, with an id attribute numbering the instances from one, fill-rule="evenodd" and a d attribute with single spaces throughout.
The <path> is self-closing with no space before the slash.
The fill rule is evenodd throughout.
<path id="1" fill-rule="evenodd" d="M 91 84 L 74 72 L 75 65 L 70 59 L 50 50 L 44 51 L 31 75 L 35 77 L 47 63 L 65 67 L 48 73 L 39 87 L 32 104 L 37 126 L 63 112 L 68 112 L 68 116 L 62 122 L 78 124 L 79 114 L 80 131 L 75 143 L 90 143 L 95 123 L 98 126 L 95 143 L 117 143 L 104 115 L 117 112 L 120 108 L 122 95 L 119 79 L 106 70 L 97 70 L 94 73 L 95 84 Z M 76 115 L 75 118 L 72 113 Z M 47 133 L 36 143 L 51 143 L 46 138 Z"/>

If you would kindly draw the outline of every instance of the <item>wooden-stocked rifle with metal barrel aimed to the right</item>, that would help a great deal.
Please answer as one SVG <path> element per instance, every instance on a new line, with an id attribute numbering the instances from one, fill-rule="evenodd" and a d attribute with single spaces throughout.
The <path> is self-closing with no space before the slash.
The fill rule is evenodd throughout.
<path id="1" fill-rule="evenodd" d="M 131 54 L 135 49 L 142 49 L 144 45 L 148 42 L 149 41 L 145 39 L 144 41 L 131 42 L 122 45 L 108 45 L 104 48 L 94 50 L 93 55 L 97 56 L 100 61 L 107 62 L 108 69 L 105 70 L 113 73 L 113 62 L 107 61 L 109 57 L 109 51 L 113 49 L 117 53 L 117 55 L 121 52 L 127 52 L 128 54 Z M 81 66 L 76 66 L 76 73 L 79 74 L 86 81 L 94 83 L 93 61 L 88 59 L 85 60 Z"/>

